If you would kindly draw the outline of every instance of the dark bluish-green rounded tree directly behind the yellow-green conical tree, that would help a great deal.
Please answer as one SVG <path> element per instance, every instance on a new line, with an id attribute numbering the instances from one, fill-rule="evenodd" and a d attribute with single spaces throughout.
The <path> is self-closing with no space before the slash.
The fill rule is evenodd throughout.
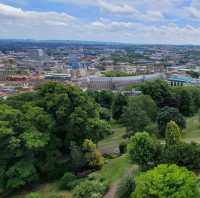
<path id="1" fill-rule="evenodd" d="M 176 108 L 173 107 L 164 107 L 160 110 L 157 117 L 157 124 L 161 137 L 165 137 L 165 131 L 167 123 L 170 121 L 176 122 L 180 129 L 184 129 L 186 122 L 184 117 L 179 113 Z"/>

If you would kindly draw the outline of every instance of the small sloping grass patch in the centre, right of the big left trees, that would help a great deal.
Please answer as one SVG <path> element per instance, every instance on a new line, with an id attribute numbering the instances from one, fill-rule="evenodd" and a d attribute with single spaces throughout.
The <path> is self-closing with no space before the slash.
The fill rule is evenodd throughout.
<path id="1" fill-rule="evenodd" d="M 98 143 L 98 148 L 102 153 L 114 153 L 119 144 L 123 141 L 126 128 L 117 124 L 112 124 L 113 134 Z"/>

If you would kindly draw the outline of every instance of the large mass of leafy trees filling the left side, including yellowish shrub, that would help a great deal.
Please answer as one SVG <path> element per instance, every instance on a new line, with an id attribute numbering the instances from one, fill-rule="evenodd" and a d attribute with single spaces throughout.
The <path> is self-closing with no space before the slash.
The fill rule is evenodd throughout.
<path id="1" fill-rule="evenodd" d="M 0 189 L 101 167 L 95 143 L 111 128 L 100 109 L 78 87 L 55 82 L 1 100 Z"/>

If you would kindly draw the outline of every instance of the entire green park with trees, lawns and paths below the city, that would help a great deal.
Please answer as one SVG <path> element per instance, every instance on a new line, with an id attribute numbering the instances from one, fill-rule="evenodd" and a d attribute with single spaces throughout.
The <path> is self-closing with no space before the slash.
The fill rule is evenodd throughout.
<path id="1" fill-rule="evenodd" d="M 200 89 L 139 86 L 51 82 L 0 101 L 1 197 L 198 198 Z"/>

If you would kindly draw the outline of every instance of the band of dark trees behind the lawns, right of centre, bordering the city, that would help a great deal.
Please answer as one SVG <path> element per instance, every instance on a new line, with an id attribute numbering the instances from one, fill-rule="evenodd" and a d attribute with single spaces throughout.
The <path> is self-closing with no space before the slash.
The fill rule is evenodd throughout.
<path id="1" fill-rule="evenodd" d="M 185 117 L 192 116 L 200 108 L 200 87 L 170 87 L 167 82 L 156 80 L 139 84 L 142 95 L 127 97 L 111 91 L 89 92 L 102 107 L 101 116 L 115 119 L 126 126 L 128 135 L 147 130 L 165 137 L 165 127 L 175 121 L 186 127 Z"/>

